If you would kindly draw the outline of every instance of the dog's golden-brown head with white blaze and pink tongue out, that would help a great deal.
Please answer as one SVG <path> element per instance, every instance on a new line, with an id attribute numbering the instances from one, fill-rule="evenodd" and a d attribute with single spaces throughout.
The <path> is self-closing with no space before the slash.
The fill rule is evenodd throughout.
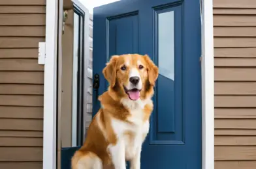
<path id="1" fill-rule="evenodd" d="M 103 69 L 109 92 L 116 99 L 147 99 L 153 95 L 158 68 L 148 55 L 114 55 Z"/>

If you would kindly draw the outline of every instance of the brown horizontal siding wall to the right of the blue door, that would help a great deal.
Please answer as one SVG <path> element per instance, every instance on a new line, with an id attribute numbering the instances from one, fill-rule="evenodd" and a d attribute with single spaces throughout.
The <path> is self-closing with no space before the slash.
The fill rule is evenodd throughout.
<path id="1" fill-rule="evenodd" d="M 214 0 L 215 168 L 256 166 L 256 1 Z"/>

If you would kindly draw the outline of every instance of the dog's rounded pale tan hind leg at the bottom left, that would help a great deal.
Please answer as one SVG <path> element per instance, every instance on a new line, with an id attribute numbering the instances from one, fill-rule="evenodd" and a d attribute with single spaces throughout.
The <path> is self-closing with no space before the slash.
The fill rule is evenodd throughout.
<path id="1" fill-rule="evenodd" d="M 72 169 L 103 169 L 101 159 L 91 151 L 78 150 L 71 159 Z"/>

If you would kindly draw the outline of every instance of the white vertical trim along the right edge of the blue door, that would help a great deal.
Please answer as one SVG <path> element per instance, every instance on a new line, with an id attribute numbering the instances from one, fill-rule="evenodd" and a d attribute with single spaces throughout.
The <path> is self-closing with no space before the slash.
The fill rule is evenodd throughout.
<path id="1" fill-rule="evenodd" d="M 202 169 L 214 169 L 213 17 L 213 1 L 202 0 Z"/>

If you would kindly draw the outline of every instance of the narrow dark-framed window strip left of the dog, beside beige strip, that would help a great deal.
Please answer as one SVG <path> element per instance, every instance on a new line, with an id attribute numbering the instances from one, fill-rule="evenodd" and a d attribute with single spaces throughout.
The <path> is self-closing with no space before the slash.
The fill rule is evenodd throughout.
<path id="1" fill-rule="evenodd" d="M 84 142 L 84 17 L 84 12 L 74 5 L 72 146 Z"/>

